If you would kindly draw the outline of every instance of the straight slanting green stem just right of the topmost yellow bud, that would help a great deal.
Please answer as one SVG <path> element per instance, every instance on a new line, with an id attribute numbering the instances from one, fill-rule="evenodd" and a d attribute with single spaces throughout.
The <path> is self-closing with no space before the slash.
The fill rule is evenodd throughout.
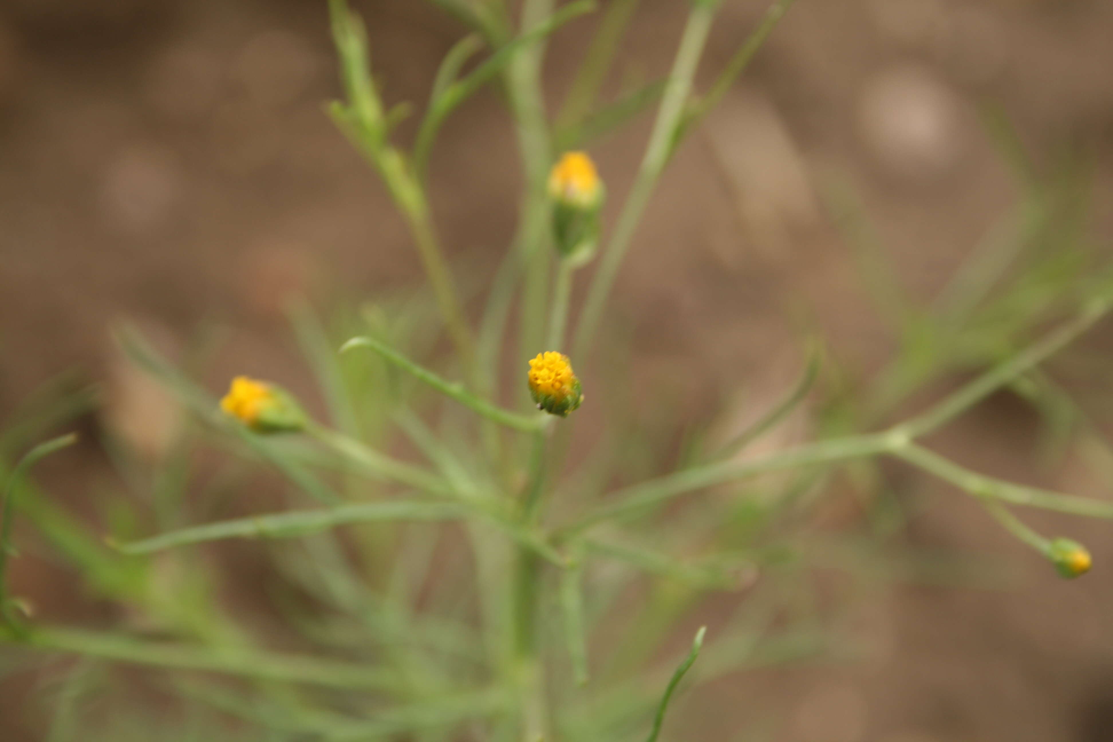
<path id="1" fill-rule="evenodd" d="M 580 363 L 584 363 L 591 348 L 591 342 L 598 329 L 619 266 L 630 247 L 630 241 L 638 229 L 649 198 L 653 194 L 657 180 L 669 160 L 677 127 L 681 122 L 696 76 L 696 68 L 703 53 L 703 46 L 707 43 L 707 36 L 711 30 L 715 13 L 716 9 L 712 6 L 700 3 L 695 6 L 688 16 L 688 23 L 684 27 L 683 37 L 680 39 L 680 48 L 672 65 L 672 72 L 669 76 L 661 107 L 657 112 L 657 121 L 653 125 L 641 168 L 622 208 L 622 214 L 619 216 L 614 235 L 603 250 L 599 269 L 591 283 L 588 299 L 580 316 L 575 343 L 572 346 L 573 357 L 578 358 Z"/>

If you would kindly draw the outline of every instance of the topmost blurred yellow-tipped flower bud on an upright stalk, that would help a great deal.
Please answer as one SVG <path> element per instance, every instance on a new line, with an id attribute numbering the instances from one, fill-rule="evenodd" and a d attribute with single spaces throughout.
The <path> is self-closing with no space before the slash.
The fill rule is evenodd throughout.
<path id="1" fill-rule="evenodd" d="M 564 152 L 549 174 L 556 249 L 585 263 L 599 243 L 599 211 L 605 189 L 587 152 Z"/>

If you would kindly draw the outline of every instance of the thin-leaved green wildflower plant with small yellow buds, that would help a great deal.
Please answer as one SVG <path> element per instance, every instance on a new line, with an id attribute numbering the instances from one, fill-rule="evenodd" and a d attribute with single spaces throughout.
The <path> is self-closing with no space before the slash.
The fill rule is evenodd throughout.
<path id="1" fill-rule="evenodd" d="M 1013 508 L 1111 518 L 1113 503 L 985 476 L 922 441 L 999 389 L 1041 396 L 1050 384 L 1041 376 L 1041 364 L 1113 306 L 1107 269 L 1080 270 L 1070 285 L 1055 285 L 1057 305 L 1025 316 L 1007 338 L 995 336 L 995 343 L 963 335 L 974 332 L 964 328 L 991 324 L 979 324 L 984 297 L 972 297 L 969 289 L 984 281 L 959 280 L 943 313 L 899 313 L 907 323 L 903 337 L 934 333 L 940 346 L 993 347 L 995 355 L 934 356 L 934 365 L 916 366 L 924 354 L 903 354 L 885 374 L 877 404 L 860 418 L 881 419 L 918 383 L 956 366 L 969 367 L 971 358 L 983 370 L 926 412 L 895 425 L 865 433 L 844 426 L 814 442 L 739 457 L 812 392 L 816 353 L 789 395 L 766 416 L 718 449 L 698 447 L 674 471 L 640 481 L 631 476 L 636 467 L 615 472 L 623 468 L 617 463 L 621 446 L 615 441 L 634 437 L 621 429 L 593 437 L 598 461 L 570 466 L 571 431 L 592 436 L 583 426 L 575 428 L 584 415 L 579 410 L 602 399 L 597 388 L 603 385 L 591 375 L 594 340 L 654 187 L 684 137 L 746 69 L 791 0 L 771 4 L 702 96 L 693 91 L 693 79 L 720 3 L 693 0 L 668 77 L 598 106 L 601 81 L 638 4 L 614 0 L 552 122 L 540 82 L 545 39 L 593 11 L 593 3 L 580 0 L 556 8 L 553 0 L 525 0 L 515 28 L 500 0 L 433 1 L 471 33 L 445 56 L 413 147 L 395 141 L 394 128 L 410 108 L 384 105 L 363 26 L 344 0 L 328 2 L 344 92 L 329 115 L 380 175 L 405 218 L 439 320 L 407 325 L 411 309 L 404 305 L 378 306 L 363 313 L 354 323 L 358 329 L 341 345 L 311 310 L 292 308 L 295 334 L 328 404 L 327 423 L 313 419 L 277 385 L 247 377 L 234 379 L 218 402 L 135 332 L 121 330 L 119 340 L 130 357 L 193 413 L 179 445 L 150 473 L 155 484 L 147 520 L 157 532 L 141 534 L 134 524 L 122 525 L 105 544 L 33 486 L 26 476 L 29 467 L 71 443 L 69 437 L 35 447 L 10 473 L 0 472 L 8 474 L 0 509 L 3 642 L 79 655 L 86 662 L 171 671 L 160 690 L 181 700 L 180 713 L 190 729 L 214 739 L 614 742 L 648 734 L 652 742 L 681 679 L 706 682 L 764 657 L 792 659 L 828 649 L 810 629 L 778 629 L 782 613 L 776 591 L 764 591 L 762 581 L 795 558 L 778 548 L 782 522 L 807 495 L 823 492 L 827 475 L 840 467 L 883 458 L 905 462 L 977 499 L 1063 576 L 1091 567 L 1084 546 L 1036 533 Z M 482 61 L 464 72 L 481 52 Z M 441 249 L 426 171 L 441 127 L 487 85 L 505 92 L 525 188 L 518 233 L 476 326 Z M 651 105 L 657 113 L 637 177 L 617 220 L 605 225 L 604 178 L 585 150 L 594 136 Z M 860 226 L 853 208 L 836 210 L 851 233 Z M 849 239 L 856 241 L 854 235 Z M 577 270 L 589 265 L 593 273 L 587 298 L 570 333 L 572 284 Z M 1001 300 L 1031 286 L 1005 288 Z M 519 337 L 509 343 L 515 306 Z M 1048 335 L 1018 347 L 1020 338 L 1048 315 L 1064 314 L 1068 318 Z M 430 327 L 437 332 L 423 340 L 402 329 L 406 326 L 425 328 L 426 335 Z M 450 358 L 433 352 L 441 328 L 453 348 Z M 520 362 L 504 378 L 500 358 L 508 343 Z M 591 389 L 591 402 L 585 402 L 583 386 Z M 23 442 L 92 404 L 85 393 L 62 396 L 61 412 L 30 416 L 20 437 L 0 441 L 0 453 L 10 456 Z M 436 429 L 427 422 L 431 410 L 441 413 Z M 421 461 L 395 453 L 394 436 Z M 292 485 L 289 506 L 189 522 L 184 498 L 189 478 L 181 473 L 188 471 L 194 448 L 209 441 L 283 477 Z M 770 482 L 771 473 L 785 478 Z M 235 479 L 236 472 L 227 476 Z M 609 488 L 615 479 L 619 486 Z M 743 496 L 754 495 L 746 487 L 755 482 L 775 495 Z M 693 508 L 699 509 L 695 515 L 672 507 L 679 498 L 710 488 L 727 497 Z M 662 522 L 656 516 L 667 507 L 669 517 Z M 31 607 L 10 594 L 4 580 L 17 514 L 78 565 L 98 595 L 129 606 L 142 617 L 138 625 L 149 629 L 86 631 L 36 622 Z M 190 555 L 201 545 L 232 538 L 263 541 L 285 581 L 274 602 L 312 651 L 273 649 L 217 598 L 218 575 L 208 562 Z M 615 568 L 601 570 L 600 564 Z M 651 587 L 631 606 L 619 596 L 639 584 L 637 575 L 646 575 Z M 679 666 L 679 657 L 661 666 L 647 660 L 669 641 L 680 619 L 698 613 L 702 595 L 738 593 L 755 580 L 755 594 L 738 601 L 729 620 L 700 629 Z M 613 646 L 603 646 L 592 636 L 609 617 L 622 629 Z M 705 643 L 709 656 L 696 663 Z M 75 721 L 80 715 L 76 700 L 88 692 L 90 673 L 81 665 L 67 679 L 51 739 L 122 739 L 111 724 L 101 736 L 89 729 L 73 736 L 81 729 Z M 238 723 L 228 726 L 227 719 Z M 160 739 L 178 739 L 157 721 L 150 723 L 144 729 L 159 729 Z M 183 732 L 180 739 L 199 734 Z"/>

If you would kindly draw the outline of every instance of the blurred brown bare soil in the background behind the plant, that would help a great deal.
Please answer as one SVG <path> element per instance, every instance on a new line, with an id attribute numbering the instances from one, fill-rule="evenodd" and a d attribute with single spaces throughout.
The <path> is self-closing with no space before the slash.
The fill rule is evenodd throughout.
<path id="1" fill-rule="evenodd" d="M 764 4 L 728 0 L 702 83 Z M 686 6 L 642 3 L 615 86 L 667 70 Z M 416 0 L 361 10 L 387 98 L 421 105 L 462 29 Z M 590 28 L 575 21 L 551 46 L 554 105 Z M 1110 39 L 1106 0 L 799 0 L 680 150 L 630 250 L 613 308 L 633 329 L 639 368 L 706 415 L 739 384 L 784 388 L 801 323 L 818 324 L 851 367 L 876 367 L 889 339 L 823 186 L 855 184 L 905 286 L 930 296 L 1017 195 L 978 125 L 984 100 L 1033 152 L 1089 154 L 1107 237 Z M 308 395 L 282 311 L 289 295 L 327 300 L 420 277 L 384 189 L 322 112 L 336 91 L 324 0 L 0 7 L 0 415 L 77 366 L 117 390 L 110 417 L 125 435 L 157 445 L 160 423 L 109 339 L 119 317 L 170 347 L 223 324 L 233 342 L 214 379 L 257 374 Z M 612 217 L 647 131 L 643 118 L 593 149 Z M 518 172 L 500 97 L 485 91 L 445 128 L 431 179 L 447 249 L 480 278 L 512 236 Z M 1073 467 L 1032 463 L 1033 435 L 1025 414 L 991 404 L 937 445 L 983 471 L 1102 494 Z M 80 512 L 92 511 L 81 482 L 95 459 L 43 468 Z M 741 739 L 755 719 L 777 718 L 778 739 L 799 742 L 1113 739 L 1109 526 L 1033 518 L 1092 547 L 1094 573 L 1063 583 L 965 498 L 917 486 L 940 489 L 914 524 L 917 543 L 999 554 L 1031 572 L 1023 587 L 884 593 L 858 617 L 876 644 L 868 661 L 719 683 L 687 702 L 703 719 L 693 733 Z M 53 567 L 28 557 L 13 578 L 45 615 L 76 610 Z M 0 739 L 31 739 L 21 704 L 32 691 L 0 694 Z"/>

